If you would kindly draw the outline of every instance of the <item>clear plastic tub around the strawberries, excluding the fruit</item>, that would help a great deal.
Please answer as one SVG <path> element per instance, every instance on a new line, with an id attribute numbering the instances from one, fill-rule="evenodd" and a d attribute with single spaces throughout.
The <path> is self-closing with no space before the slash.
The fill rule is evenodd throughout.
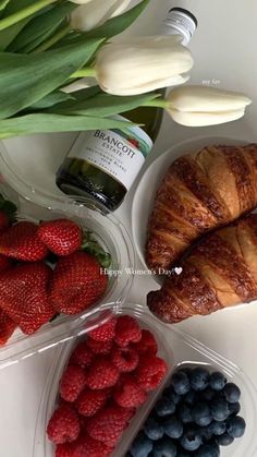
<path id="1" fill-rule="evenodd" d="M 0 182 L 0 193 L 17 205 L 21 219 L 39 221 L 66 217 L 78 221 L 85 229 L 93 231 L 94 238 L 111 254 L 110 269 L 122 272 L 121 275 L 109 275 L 105 297 L 82 314 L 60 315 L 30 336 L 16 329 L 7 345 L 0 347 L 2 369 L 65 340 L 68 335 L 73 334 L 73 329 L 91 314 L 101 320 L 101 316 L 105 318 L 106 308 L 111 310 L 121 305 L 127 298 L 133 281 L 133 276 L 126 274 L 125 268 L 134 268 L 135 255 L 125 227 L 114 216 L 105 215 L 99 207 L 95 207 L 90 200 L 81 199 L 79 202 L 75 202 L 72 197 L 65 197 L 44 207 L 20 196 L 3 181 Z"/>

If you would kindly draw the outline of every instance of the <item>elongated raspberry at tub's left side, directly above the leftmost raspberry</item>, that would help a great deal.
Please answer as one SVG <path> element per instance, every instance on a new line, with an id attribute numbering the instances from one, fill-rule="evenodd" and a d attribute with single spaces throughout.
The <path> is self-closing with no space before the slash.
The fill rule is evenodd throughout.
<path id="1" fill-rule="evenodd" d="M 84 370 L 78 365 L 69 365 L 60 383 L 61 397 L 66 401 L 73 402 L 77 399 L 85 385 L 86 374 Z"/>

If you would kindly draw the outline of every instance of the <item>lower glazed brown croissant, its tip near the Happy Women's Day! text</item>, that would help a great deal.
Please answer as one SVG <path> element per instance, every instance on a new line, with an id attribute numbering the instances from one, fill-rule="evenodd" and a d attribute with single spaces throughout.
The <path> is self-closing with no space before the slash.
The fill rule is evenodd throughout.
<path id="1" fill-rule="evenodd" d="M 257 299 L 257 214 L 208 234 L 148 293 L 150 311 L 168 323 Z"/>

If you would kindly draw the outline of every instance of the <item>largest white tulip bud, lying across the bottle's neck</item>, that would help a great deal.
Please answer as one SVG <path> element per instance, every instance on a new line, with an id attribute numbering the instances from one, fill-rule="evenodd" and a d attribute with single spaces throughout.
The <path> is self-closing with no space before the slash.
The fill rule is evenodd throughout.
<path id="1" fill-rule="evenodd" d="M 183 84 L 194 61 L 180 41 L 176 36 L 150 36 L 102 46 L 95 65 L 98 84 L 121 96 Z"/>

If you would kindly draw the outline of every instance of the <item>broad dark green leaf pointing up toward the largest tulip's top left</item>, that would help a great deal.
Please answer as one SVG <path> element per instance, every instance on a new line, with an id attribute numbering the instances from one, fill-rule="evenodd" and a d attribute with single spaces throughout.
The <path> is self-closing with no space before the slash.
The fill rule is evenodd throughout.
<path id="1" fill-rule="evenodd" d="M 100 39 L 37 55 L 0 52 L 0 119 L 34 105 L 87 63 Z"/>

